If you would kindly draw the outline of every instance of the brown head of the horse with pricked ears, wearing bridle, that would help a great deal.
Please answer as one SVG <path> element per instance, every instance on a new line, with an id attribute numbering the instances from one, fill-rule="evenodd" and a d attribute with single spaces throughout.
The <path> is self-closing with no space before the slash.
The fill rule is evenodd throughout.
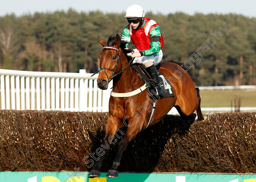
<path id="1" fill-rule="evenodd" d="M 104 42 L 100 37 L 100 43 L 103 46 L 100 58 L 100 70 L 97 79 L 98 87 L 102 90 L 108 88 L 108 83 L 114 76 L 123 72 L 123 63 L 121 60 L 120 37 L 118 34 L 111 35 L 108 43 Z"/>

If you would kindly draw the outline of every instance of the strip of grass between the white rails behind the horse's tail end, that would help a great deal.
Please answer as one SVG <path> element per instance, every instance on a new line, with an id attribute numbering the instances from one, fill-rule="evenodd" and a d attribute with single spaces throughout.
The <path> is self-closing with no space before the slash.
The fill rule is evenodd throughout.
<path id="1" fill-rule="evenodd" d="M 256 89 L 200 90 L 201 107 L 230 107 L 231 99 L 242 98 L 241 107 L 256 107 Z"/>

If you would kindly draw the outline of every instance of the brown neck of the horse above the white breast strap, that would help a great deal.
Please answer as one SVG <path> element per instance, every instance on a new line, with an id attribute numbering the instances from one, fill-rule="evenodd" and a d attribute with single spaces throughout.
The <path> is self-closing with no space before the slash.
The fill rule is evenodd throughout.
<path id="1" fill-rule="evenodd" d="M 120 78 L 113 79 L 113 92 L 131 92 L 140 85 L 140 79 L 131 66 L 128 66 L 121 74 Z"/>

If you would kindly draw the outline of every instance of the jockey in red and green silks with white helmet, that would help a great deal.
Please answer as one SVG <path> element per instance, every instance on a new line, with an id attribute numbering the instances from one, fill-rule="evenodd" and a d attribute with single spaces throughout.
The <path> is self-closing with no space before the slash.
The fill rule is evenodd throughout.
<path id="1" fill-rule="evenodd" d="M 144 10 L 139 5 L 131 5 L 126 10 L 125 17 L 129 24 L 123 30 L 121 41 L 124 42 L 125 49 L 128 49 L 128 42 L 132 40 L 136 49 L 133 49 L 133 63 L 143 64 L 151 78 L 155 80 L 153 86 L 156 88 L 156 95 L 163 96 L 159 85 L 159 76 L 155 65 L 162 60 L 163 36 L 157 22 L 144 18 Z"/>

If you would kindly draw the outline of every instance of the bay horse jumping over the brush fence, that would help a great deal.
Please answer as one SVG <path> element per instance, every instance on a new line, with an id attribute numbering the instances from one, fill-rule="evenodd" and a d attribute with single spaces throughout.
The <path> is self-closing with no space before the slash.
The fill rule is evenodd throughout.
<path id="1" fill-rule="evenodd" d="M 135 70 L 132 69 L 130 63 L 120 48 L 120 37 L 118 34 L 111 35 L 108 38 L 108 43 L 104 42 L 100 37 L 99 41 L 103 46 L 100 58 L 100 70 L 97 79 L 100 89 L 107 89 L 108 83 L 113 80 L 114 93 L 128 93 L 137 90 L 141 87 L 141 80 Z M 178 66 L 182 67 L 181 63 L 162 62 L 158 72 L 162 72 L 166 78 L 175 78 L 174 72 L 179 70 Z M 183 68 L 185 66 L 183 65 Z M 96 72 L 97 73 L 97 72 Z M 192 80 L 193 79 L 193 80 Z M 158 99 L 155 108 L 155 115 L 149 126 L 162 120 L 165 115 L 176 107 L 181 116 L 190 116 L 197 110 L 198 120 L 203 120 L 201 113 L 199 89 L 195 88 L 194 82 L 198 80 L 194 76 L 190 76 L 188 71 L 183 70 L 182 76 L 179 79 L 169 79 L 175 96 Z M 116 142 L 115 136 L 117 131 L 122 127 L 127 127 L 118 146 L 116 159 L 113 162 L 111 169 L 108 171 L 107 177 L 118 177 L 117 167 L 120 165 L 120 159 L 123 151 L 128 143 L 135 136 L 146 128 L 150 112 L 152 100 L 147 90 L 144 90 L 133 96 L 114 97 L 109 99 L 109 113 L 106 120 L 106 133 L 103 144 L 99 152 L 99 159 L 95 162 L 94 169 L 88 175 L 89 178 L 100 177 L 100 167 L 102 166 L 103 158 L 109 149 L 110 144 Z M 143 104 L 143 107 L 142 107 Z M 116 135 L 115 135 L 116 134 Z M 120 134 L 120 133 L 119 133 Z M 97 153 L 97 151 L 96 151 Z"/>

